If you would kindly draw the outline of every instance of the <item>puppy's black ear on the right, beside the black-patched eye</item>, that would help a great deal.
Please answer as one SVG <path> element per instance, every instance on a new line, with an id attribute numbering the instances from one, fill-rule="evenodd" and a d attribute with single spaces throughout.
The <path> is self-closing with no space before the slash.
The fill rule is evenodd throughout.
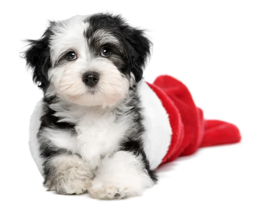
<path id="1" fill-rule="evenodd" d="M 127 25 L 122 32 L 125 37 L 131 72 L 135 76 L 135 81 L 139 82 L 142 79 L 147 59 L 150 57 L 152 43 L 145 36 L 143 30 Z"/>

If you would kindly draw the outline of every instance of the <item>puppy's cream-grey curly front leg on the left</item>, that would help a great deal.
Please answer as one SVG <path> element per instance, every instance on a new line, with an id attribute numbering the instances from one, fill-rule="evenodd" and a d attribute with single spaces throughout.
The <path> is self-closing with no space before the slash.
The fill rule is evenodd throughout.
<path id="1" fill-rule="evenodd" d="M 75 154 L 55 155 L 45 162 L 45 187 L 58 194 L 81 194 L 90 186 L 93 173 Z"/>

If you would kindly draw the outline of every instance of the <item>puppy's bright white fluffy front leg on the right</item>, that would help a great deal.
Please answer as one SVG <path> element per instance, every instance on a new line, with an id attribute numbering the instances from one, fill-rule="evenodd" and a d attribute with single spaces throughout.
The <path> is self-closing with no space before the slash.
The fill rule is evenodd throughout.
<path id="1" fill-rule="evenodd" d="M 154 177 L 156 180 L 156 175 Z M 143 189 L 153 184 L 143 155 L 118 151 L 103 158 L 102 166 L 97 170 L 88 191 L 93 198 L 120 199 L 142 195 Z"/>

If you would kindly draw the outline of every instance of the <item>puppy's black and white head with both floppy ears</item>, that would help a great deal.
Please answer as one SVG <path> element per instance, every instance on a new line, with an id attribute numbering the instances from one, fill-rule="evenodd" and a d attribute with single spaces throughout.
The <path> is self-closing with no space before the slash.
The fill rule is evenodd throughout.
<path id="1" fill-rule="evenodd" d="M 50 22 L 24 57 L 46 96 L 79 105 L 112 106 L 139 82 L 150 41 L 120 16 L 94 14 Z"/>

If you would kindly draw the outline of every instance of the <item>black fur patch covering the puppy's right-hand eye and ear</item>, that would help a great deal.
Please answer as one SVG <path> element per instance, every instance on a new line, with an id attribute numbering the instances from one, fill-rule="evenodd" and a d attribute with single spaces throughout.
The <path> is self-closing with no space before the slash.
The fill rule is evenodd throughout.
<path id="1" fill-rule="evenodd" d="M 145 37 L 144 31 L 131 27 L 119 15 L 95 14 L 87 18 L 85 22 L 90 23 L 89 28 L 84 32 L 85 37 L 90 41 L 89 46 L 96 47 L 96 43 L 90 39 L 100 29 L 114 35 L 122 48 L 116 48 L 116 44 L 106 44 L 106 46 L 109 46 L 112 49 L 111 51 L 121 59 L 115 61 L 115 58 L 111 59 L 110 57 L 110 60 L 122 73 L 129 75 L 132 72 L 135 76 L 135 81 L 139 82 L 143 77 L 143 69 L 150 55 L 151 47 L 151 42 Z M 99 50 L 96 51 L 96 53 L 98 52 Z M 121 65 L 120 60 L 122 60 Z"/>

